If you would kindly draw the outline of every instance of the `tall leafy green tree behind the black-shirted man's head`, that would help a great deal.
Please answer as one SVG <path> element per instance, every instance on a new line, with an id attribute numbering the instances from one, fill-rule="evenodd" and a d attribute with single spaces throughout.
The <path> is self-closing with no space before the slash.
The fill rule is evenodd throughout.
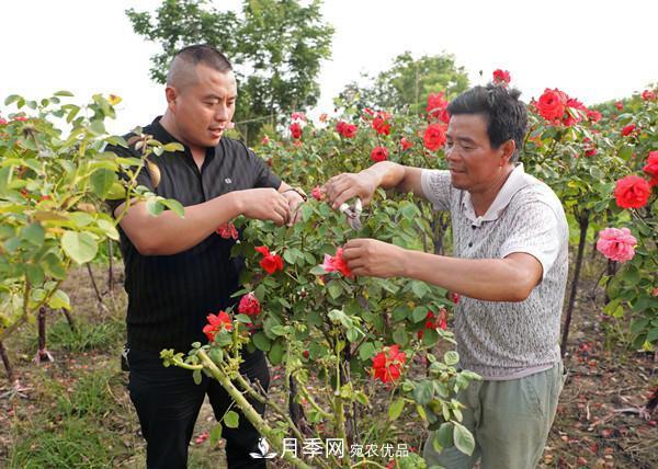
<path id="1" fill-rule="evenodd" d="M 306 3 L 306 2 L 305 2 Z M 164 83 L 173 55 L 191 44 L 209 44 L 235 66 L 239 105 L 235 122 L 254 141 L 276 116 L 317 103 L 320 62 L 331 54 L 333 27 L 322 22 L 321 1 L 245 0 L 241 12 L 220 11 L 206 0 L 164 0 L 151 14 L 129 9 L 135 32 L 159 43 L 151 78 Z"/>

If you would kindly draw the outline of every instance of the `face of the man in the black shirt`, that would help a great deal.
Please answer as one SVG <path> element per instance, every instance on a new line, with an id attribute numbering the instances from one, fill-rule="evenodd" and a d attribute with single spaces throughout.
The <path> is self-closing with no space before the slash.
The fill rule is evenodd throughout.
<path id="1" fill-rule="evenodd" d="M 177 90 L 170 108 L 178 137 L 191 148 L 216 146 L 235 112 L 237 84 L 232 71 L 223 73 L 196 66 L 197 82 Z"/>

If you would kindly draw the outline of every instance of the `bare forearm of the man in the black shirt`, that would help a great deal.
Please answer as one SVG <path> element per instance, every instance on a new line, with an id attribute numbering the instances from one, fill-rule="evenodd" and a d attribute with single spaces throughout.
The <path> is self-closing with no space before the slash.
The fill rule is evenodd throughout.
<path id="1" fill-rule="evenodd" d="M 141 254 L 171 255 L 198 244 L 241 211 L 236 192 L 188 206 L 184 217 L 171 210 L 154 217 L 147 214 L 146 204 L 139 203 L 122 219 L 122 228 Z M 136 217 L 144 219 L 145 216 L 148 217 L 148 222 L 136 220 Z"/>

